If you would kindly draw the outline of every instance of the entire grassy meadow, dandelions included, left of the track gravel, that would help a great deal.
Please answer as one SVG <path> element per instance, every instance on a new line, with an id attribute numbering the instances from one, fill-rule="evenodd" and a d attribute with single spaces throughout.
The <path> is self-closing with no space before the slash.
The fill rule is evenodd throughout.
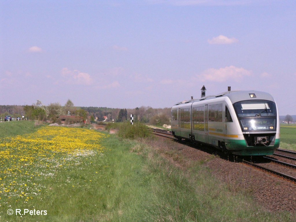
<path id="1" fill-rule="evenodd" d="M 137 135 L 153 140 L 139 128 L 144 132 Z M 292 219 L 265 212 L 251 198 L 230 192 L 202 163 L 189 162 L 182 170 L 155 147 L 115 135 L 46 126 L 0 144 L 3 221 Z M 183 158 L 177 150 L 171 152 L 175 159 Z M 8 209 L 14 214 L 7 215 Z M 46 210 L 46 215 L 21 217 L 15 209 Z"/>

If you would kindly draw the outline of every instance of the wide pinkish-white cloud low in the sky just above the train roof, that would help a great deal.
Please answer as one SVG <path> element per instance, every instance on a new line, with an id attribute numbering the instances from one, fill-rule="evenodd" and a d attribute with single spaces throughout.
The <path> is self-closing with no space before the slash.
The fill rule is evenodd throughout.
<path id="1" fill-rule="evenodd" d="M 224 82 L 228 79 L 240 82 L 245 76 L 252 75 L 252 71 L 246 70 L 244 68 L 238 68 L 233 65 L 214 69 L 210 68 L 205 70 L 202 74 L 197 75 L 197 78 L 204 81 L 213 81 L 213 82 Z"/>

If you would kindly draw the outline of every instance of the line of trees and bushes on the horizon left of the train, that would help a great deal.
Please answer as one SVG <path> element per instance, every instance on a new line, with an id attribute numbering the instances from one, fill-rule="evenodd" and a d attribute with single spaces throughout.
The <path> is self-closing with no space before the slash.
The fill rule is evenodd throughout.
<path id="1" fill-rule="evenodd" d="M 59 116 L 74 115 L 80 119 L 86 120 L 90 118 L 91 122 L 122 122 L 129 121 L 130 115 L 134 115 L 134 122 L 150 123 L 153 125 L 170 124 L 170 108 L 152 108 L 152 107 L 136 107 L 134 109 L 120 109 L 108 107 L 75 107 L 73 102 L 68 99 L 66 104 L 62 106 L 58 102 L 50 103 L 48 106 L 37 100 L 32 105 L 2 105 L 0 106 L 1 117 L 10 115 L 12 117 L 21 117 L 22 115 L 29 120 L 51 121 L 59 123 Z M 107 119 L 106 119 L 107 118 Z"/>

